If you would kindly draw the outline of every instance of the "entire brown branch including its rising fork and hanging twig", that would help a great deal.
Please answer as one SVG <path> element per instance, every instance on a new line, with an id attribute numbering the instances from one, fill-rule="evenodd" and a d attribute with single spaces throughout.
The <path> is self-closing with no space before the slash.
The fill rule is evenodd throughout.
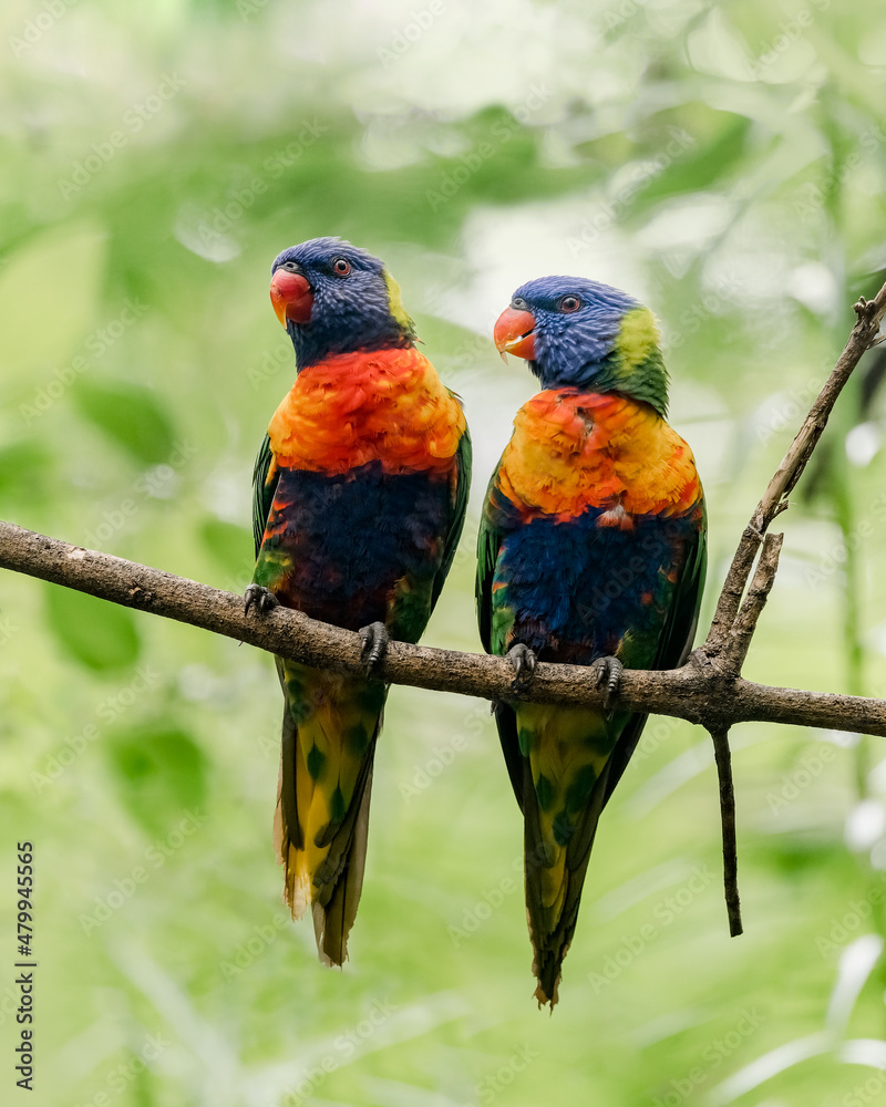
<path id="1" fill-rule="evenodd" d="M 770 524 L 787 507 L 786 496 L 812 456 L 853 369 L 865 350 L 880 341 L 877 332 L 886 311 L 886 284 L 874 300 L 859 300 L 855 311 L 858 319 L 843 353 L 741 536 L 708 637 L 682 669 L 625 670 L 620 674 L 606 671 L 601 681 L 599 668 L 538 662 L 529 671 L 530 680 L 515 680 L 515 659 L 384 642 L 374 634 L 369 642 L 365 632 L 361 638 L 353 631 L 308 619 L 298 611 L 266 606 L 258 592 L 244 603 L 241 596 L 71 546 L 11 523 L 0 523 L 0 568 L 190 623 L 318 669 L 336 668 L 363 676 L 367 662 L 371 661 L 373 676 L 390 684 L 486 700 L 518 699 L 608 710 L 615 679 L 620 707 L 686 718 L 711 734 L 720 782 L 730 932 L 740 934 L 730 727 L 758 721 L 886 737 L 884 700 L 753 684 L 741 675 L 760 613 L 775 580 L 784 539 L 783 535 L 767 532 Z M 527 660 L 521 659 L 517 677 L 528 668 Z"/>

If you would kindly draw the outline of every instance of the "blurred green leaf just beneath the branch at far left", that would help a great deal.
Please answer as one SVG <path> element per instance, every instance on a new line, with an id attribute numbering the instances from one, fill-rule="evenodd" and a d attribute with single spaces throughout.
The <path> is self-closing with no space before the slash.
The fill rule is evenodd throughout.
<path id="1" fill-rule="evenodd" d="M 141 652 L 132 613 L 85 592 L 48 586 L 47 619 L 59 644 L 87 669 L 124 669 Z"/>

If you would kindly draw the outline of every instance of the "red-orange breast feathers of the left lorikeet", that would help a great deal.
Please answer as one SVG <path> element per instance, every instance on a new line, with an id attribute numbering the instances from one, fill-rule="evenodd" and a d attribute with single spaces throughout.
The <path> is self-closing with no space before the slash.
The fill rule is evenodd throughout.
<path id="1" fill-rule="evenodd" d="M 465 431 L 459 401 L 418 350 L 338 354 L 303 369 L 268 427 L 279 465 L 447 473 Z"/>

